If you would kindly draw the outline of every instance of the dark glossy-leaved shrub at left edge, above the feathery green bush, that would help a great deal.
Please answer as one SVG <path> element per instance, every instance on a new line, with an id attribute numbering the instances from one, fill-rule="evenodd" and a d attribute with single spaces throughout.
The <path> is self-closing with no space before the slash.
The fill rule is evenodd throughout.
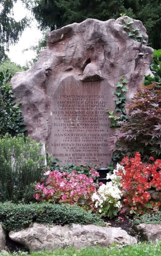
<path id="1" fill-rule="evenodd" d="M 21 102 L 16 104 L 12 88 L 8 84 L 11 77 L 9 70 L 0 72 L 0 137 L 7 132 L 12 136 L 22 136 L 27 130 L 19 108 Z"/>

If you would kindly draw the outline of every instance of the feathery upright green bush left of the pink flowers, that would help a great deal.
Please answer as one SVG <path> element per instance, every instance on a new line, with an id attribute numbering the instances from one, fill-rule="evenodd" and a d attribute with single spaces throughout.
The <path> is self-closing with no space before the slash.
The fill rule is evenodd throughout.
<path id="1" fill-rule="evenodd" d="M 42 142 L 30 137 L 12 137 L 7 134 L 0 139 L 0 202 L 18 202 L 31 196 L 33 182 L 41 180 L 45 156 L 41 154 Z"/>

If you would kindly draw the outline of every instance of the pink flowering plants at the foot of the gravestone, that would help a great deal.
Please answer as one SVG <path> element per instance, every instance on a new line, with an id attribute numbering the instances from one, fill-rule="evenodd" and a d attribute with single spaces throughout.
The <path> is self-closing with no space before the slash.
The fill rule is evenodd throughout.
<path id="1" fill-rule="evenodd" d="M 44 173 L 48 176 L 47 186 L 39 182 L 35 187 L 34 198 L 39 201 L 78 204 L 86 209 L 91 208 L 93 204 L 91 196 L 98 186 L 93 182 L 93 178 L 98 177 L 99 173 L 91 169 L 89 174 L 91 177 L 76 174 L 76 171 L 71 173 L 57 170 L 47 171 Z"/>

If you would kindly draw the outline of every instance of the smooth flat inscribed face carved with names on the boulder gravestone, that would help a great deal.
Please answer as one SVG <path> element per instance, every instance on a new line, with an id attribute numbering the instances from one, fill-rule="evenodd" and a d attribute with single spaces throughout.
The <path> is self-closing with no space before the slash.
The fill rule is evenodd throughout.
<path id="1" fill-rule="evenodd" d="M 54 94 L 50 110 L 50 152 L 62 164 L 92 162 L 105 167 L 112 154 L 109 138 L 113 129 L 106 113 L 111 98 L 103 93 L 103 82 L 99 82 L 99 88 L 98 82 L 80 82 L 79 86 L 77 83 L 64 82 Z"/>

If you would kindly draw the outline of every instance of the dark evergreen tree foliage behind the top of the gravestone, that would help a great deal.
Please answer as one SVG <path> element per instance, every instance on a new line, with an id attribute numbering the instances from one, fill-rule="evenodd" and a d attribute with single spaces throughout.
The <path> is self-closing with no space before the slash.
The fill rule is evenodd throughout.
<path id="1" fill-rule="evenodd" d="M 160 0 L 35 0 L 34 3 L 32 12 L 41 29 L 54 30 L 86 18 L 119 18 L 121 13 L 126 13 L 141 20 L 147 28 L 150 45 L 161 48 Z"/>

